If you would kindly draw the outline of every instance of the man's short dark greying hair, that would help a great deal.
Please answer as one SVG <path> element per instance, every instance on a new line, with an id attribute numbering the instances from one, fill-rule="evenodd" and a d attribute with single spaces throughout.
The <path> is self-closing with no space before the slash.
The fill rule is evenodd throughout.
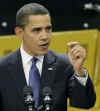
<path id="1" fill-rule="evenodd" d="M 16 14 L 16 26 L 24 27 L 30 15 L 50 15 L 47 8 L 38 3 L 29 3 L 21 7 Z"/>

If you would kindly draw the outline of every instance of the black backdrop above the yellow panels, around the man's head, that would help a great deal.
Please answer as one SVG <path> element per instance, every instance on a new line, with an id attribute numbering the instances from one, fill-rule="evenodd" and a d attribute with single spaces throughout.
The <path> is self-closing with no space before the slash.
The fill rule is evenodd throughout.
<path id="1" fill-rule="evenodd" d="M 95 0 L 0 0 L 0 35 L 14 34 L 16 12 L 30 2 L 40 3 L 49 9 L 53 31 L 100 28 L 100 13 L 84 10 L 84 4 Z M 2 26 L 2 22 L 7 22 L 7 26 Z M 84 23 L 88 27 L 84 27 Z"/>

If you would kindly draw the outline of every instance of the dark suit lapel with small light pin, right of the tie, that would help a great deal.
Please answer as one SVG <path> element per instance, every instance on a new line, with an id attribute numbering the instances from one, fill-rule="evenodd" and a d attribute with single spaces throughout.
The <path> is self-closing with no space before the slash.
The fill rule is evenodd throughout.
<path id="1" fill-rule="evenodd" d="M 50 52 L 48 52 L 48 54 L 45 55 L 43 61 L 39 105 L 42 104 L 43 88 L 46 86 L 52 88 L 55 79 L 55 71 L 56 71 L 56 58 Z"/>

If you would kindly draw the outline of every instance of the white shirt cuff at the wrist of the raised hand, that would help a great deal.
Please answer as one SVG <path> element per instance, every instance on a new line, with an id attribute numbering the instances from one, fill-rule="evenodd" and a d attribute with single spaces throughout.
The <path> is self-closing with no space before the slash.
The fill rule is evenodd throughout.
<path id="1" fill-rule="evenodd" d="M 74 74 L 74 77 L 82 84 L 83 86 L 86 86 L 86 82 L 88 79 L 88 71 L 84 69 L 84 77 L 77 76 L 78 74 Z"/>

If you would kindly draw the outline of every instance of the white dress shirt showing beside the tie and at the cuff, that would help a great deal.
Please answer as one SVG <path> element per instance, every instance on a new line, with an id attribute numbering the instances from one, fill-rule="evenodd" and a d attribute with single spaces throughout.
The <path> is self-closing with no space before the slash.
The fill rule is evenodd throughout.
<path id="1" fill-rule="evenodd" d="M 25 50 L 23 49 L 23 45 L 21 45 L 20 51 L 21 51 L 22 65 L 23 65 L 23 69 L 24 69 L 24 73 L 25 73 L 25 77 L 26 77 L 26 82 L 29 85 L 29 71 L 30 71 L 30 68 L 32 65 L 32 58 L 33 57 L 30 56 L 27 52 L 25 52 Z M 41 76 L 44 56 L 36 56 L 36 58 L 38 58 L 38 60 L 36 62 L 36 66 L 37 66 L 37 68 L 40 72 L 40 76 Z M 85 76 L 86 77 L 78 77 L 78 76 L 74 75 L 74 77 L 77 78 L 78 81 L 83 86 L 86 85 L 86 82 L 88 79 L 88 72 L 87 71 L 85 71 Z"/>

